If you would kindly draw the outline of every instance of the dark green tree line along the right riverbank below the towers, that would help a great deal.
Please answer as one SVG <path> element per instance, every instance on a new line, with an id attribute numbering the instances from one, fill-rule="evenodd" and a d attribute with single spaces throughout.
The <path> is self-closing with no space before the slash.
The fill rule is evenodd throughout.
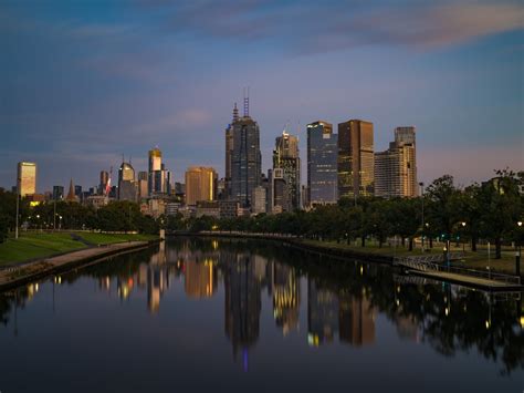
<path id="1" fill-rule="evenodd" d="M 517 225 L 524 218 L 524 197 L 518 189 L 523 184 L 524 172 L 509 169 L 496 170 L 493 179 L 464 188 L 444 175 L 416 198 L 342 198 L 336 205 L 317 206 L 310 211 L 254 217 L 202 216 L 185 220 L 178 215 L 167 218 L 167 229 L 291 234 L 348 244 L 359 240 L 361 247 L 369 238 L 381 247 L 396 236 L 402 245 L 407 242 L 409 250 L 417 237 L 425 237 L 430 247 L 433 240 L 468 241 L 473 251 L 480 240 L 485 240 L 495 245 L 499 259 L 504 241 L 523 241 L 524 229 Z"/>

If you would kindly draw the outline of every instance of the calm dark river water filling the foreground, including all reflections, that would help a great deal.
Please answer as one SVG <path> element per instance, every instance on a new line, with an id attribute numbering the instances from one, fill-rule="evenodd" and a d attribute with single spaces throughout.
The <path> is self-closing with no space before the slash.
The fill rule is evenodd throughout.
<path id="1" fill-rule="evenodd" d="M 522 392 L 518 294 L 171 239 L 0 296 L 0 391 Z"/>

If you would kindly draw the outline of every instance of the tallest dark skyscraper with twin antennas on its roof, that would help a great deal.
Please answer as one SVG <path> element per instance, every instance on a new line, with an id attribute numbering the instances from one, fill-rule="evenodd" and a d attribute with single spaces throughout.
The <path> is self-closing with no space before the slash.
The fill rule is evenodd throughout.
<path id="1" fill-rule="evenodd" d="M 260 185 L 262 155 L 260 130 L 249 115 L 249 102 L 244 115 L 232 124 L 233 149 L 231 152 L 231 198 L 241 207 L 251 206 L 253 189 Z"/>

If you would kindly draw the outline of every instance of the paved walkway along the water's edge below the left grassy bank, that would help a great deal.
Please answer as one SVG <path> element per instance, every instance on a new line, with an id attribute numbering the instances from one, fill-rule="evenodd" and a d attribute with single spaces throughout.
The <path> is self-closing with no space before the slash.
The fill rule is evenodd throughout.
<path id="1" fill-rule="evenodd" d="M 0 271 L 0 289 L 15 287 L 54 271 L 67 270 L 83 262 L 147 246 L 147 241 L 117 242 L 114 245 L 85 248 L 56 257 L 43 258 L 31 263 L 13 266 Z"/>

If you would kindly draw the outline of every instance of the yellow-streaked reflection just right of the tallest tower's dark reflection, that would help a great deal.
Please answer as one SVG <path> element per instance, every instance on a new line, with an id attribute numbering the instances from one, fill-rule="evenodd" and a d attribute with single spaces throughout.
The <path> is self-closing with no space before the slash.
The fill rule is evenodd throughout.
<path id="1" fill-rule="evenodd" d="M 298 327 L 298 310 L 301 304 L 301 286 L 296 270 L 289 266 L 274 262 L 273 265 L 273 316 L 282 333 Z"/>

